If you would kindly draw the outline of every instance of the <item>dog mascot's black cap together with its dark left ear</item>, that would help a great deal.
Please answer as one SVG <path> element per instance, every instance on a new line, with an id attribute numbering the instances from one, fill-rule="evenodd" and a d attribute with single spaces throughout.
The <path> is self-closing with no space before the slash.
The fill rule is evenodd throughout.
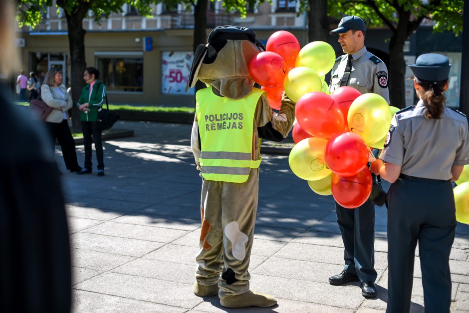
<path id="1" fill-rule="evenodd" d="M 194 87 L 202 63 L 211 64 L 218 56 L 218 52 L 225 46 L 227 40 L 248 40 L 255 44 L 260 51 L 265 51 L 263 44 L 255 38 L 255 32 L 249 27 L 217 26 L 207 39 L 207 44 L 199 44 L 194 53 L 188 85 Z"/>

